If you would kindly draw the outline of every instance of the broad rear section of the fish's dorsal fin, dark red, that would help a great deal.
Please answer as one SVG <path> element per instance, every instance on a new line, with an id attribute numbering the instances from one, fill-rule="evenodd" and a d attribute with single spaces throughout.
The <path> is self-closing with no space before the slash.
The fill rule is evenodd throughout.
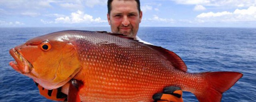
<path id="1" fill-rule="evenodd" d="M 170 61 L 176 69 L 181 69 L 182 71 L 185 71 L 185 72 L 188 71 L 188 68 L 184 63 L 184 61 L 176 53 L 169 51 L 168 49 L 164 49 L 163 47 L 154 46 L 154 45 L 148 45 L 148 46 L 152 49 L 159 51 L 160 53 L 162 53 L 162 55 L 166 56 L 168 61 Z"/>

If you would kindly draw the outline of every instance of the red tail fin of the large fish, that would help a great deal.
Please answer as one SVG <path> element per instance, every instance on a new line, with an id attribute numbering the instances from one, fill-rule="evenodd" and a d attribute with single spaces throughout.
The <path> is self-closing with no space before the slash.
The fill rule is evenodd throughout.
<path id="1" fill-rule="evenodd" d="M 243 74 L 237 72 L 206 72 L 201 73 L 208 81 L 202 92 L 194 93 L 199 102 L 220 102 L 222 93 L 231 88 Z"/>

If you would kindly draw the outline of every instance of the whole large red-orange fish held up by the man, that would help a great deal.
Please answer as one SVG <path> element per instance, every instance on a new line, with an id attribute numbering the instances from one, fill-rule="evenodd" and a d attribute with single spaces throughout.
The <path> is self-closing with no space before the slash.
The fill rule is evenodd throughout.
<path id="1" fill-rule="evenodd" d="M 62 87 L 69 94 L 69 81 L 80 80 L 82 102 L 150 102 L 166 86 L 192 92 L 200 102 L 219 102 L 242 77 L 237 72 L 188 73 L 172 51 L 114 33 L 59 31 L 30 39 L 10 54 L 13 69 L 46 89 Z"/>

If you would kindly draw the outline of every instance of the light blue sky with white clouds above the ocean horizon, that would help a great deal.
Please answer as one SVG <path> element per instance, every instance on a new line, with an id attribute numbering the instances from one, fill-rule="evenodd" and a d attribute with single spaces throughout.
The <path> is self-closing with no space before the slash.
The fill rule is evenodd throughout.
<path id="1" fill-rule="evenodd" d="M 256 27 L 256 0 L 140 0 L 144 27 Z M 109 26 L 107 0 L 0 0 L 0 27 Z"/>

